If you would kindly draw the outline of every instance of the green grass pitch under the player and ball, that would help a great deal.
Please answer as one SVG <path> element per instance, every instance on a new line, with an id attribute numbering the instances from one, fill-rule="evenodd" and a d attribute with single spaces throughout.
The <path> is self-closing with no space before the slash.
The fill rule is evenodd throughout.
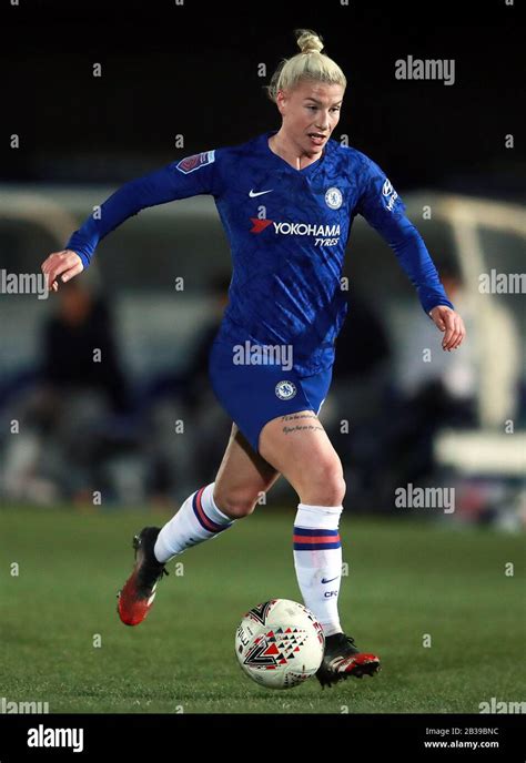
<path id="1" fill-rule="evenodd" d="M 115 594 L 131 538 L 166 519 L 0 511 L 7 701 L 48 702 L 50 713 L 478 713 L 492 698 L 524 699 L 524 536 L 345 518 L 342 623 L 383 670 L 323 691 L 315 679 L 271 691 L 241 672 L 234 633 L 261 601 L 301 601 L 293 510 L 259 507 L 172 560 L 148 619 L 127 628 Z"/>

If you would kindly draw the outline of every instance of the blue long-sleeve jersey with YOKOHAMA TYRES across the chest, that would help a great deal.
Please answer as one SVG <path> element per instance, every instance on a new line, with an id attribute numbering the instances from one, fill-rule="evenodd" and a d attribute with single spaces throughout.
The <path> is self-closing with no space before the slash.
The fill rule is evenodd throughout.
<path id="1" fill-rule="evenodd" d="M 422 236 L 377 164 L 330 140 L 318 160 L 295 170 L 270 149 L 274 132 L 188 156 L 127 183 L 65 248 L 88 266 L 101 238 L 131 215 L 176 199 L 213 195 L 233 261 L 218 337 L 292 345 L 294 368 L 305 376 L 334 362 L 347 309 L 340 279 L 356 214 L 394 250 L 426 313 L 436 305 L 453 307 Z"/>

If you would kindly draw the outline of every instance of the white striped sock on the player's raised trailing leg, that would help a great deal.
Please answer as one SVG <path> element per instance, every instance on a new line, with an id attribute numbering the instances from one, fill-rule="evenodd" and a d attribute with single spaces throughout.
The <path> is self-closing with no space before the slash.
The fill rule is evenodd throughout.
<path id="1" fill-rule="evenodd" d="M 155 541 L 153 552 L 160 562 L 170 561 L 191 546 L 216 538 L 232 527 L 234 519 L 226 517 L 214 502 L 214 485 L 192 492 L 178 513 L 164 525 Z"/>

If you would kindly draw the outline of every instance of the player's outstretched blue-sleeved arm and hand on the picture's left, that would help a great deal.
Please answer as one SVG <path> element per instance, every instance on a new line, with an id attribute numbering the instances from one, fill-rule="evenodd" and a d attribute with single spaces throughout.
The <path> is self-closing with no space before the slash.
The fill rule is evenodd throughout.
<path id="1" fill-rule="evenodd" d="M 53 252 L 41 265 L 48 287 L 59 288 L 59 278 L 69 281 L 89 266 L 99 242 L 128 217 L 149 206 L 176 199 L 221 193 L 215 151 L 204 151 L 172 162 L 121 186 L 101 206 L 94 208 L 75 231 L 65 248 Z"/>

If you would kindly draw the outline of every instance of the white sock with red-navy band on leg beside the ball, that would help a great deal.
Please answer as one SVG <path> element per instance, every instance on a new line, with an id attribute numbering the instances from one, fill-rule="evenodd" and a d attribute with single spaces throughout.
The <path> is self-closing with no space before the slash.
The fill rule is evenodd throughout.
<path id="1" fill-rule="evenodd" d="M 342 578 L 338 522 L 343 506 L 300 503 L 294 520 L 294 566 L 305 607 L 325 635 L 340 633 L 337 599 Z"/>

